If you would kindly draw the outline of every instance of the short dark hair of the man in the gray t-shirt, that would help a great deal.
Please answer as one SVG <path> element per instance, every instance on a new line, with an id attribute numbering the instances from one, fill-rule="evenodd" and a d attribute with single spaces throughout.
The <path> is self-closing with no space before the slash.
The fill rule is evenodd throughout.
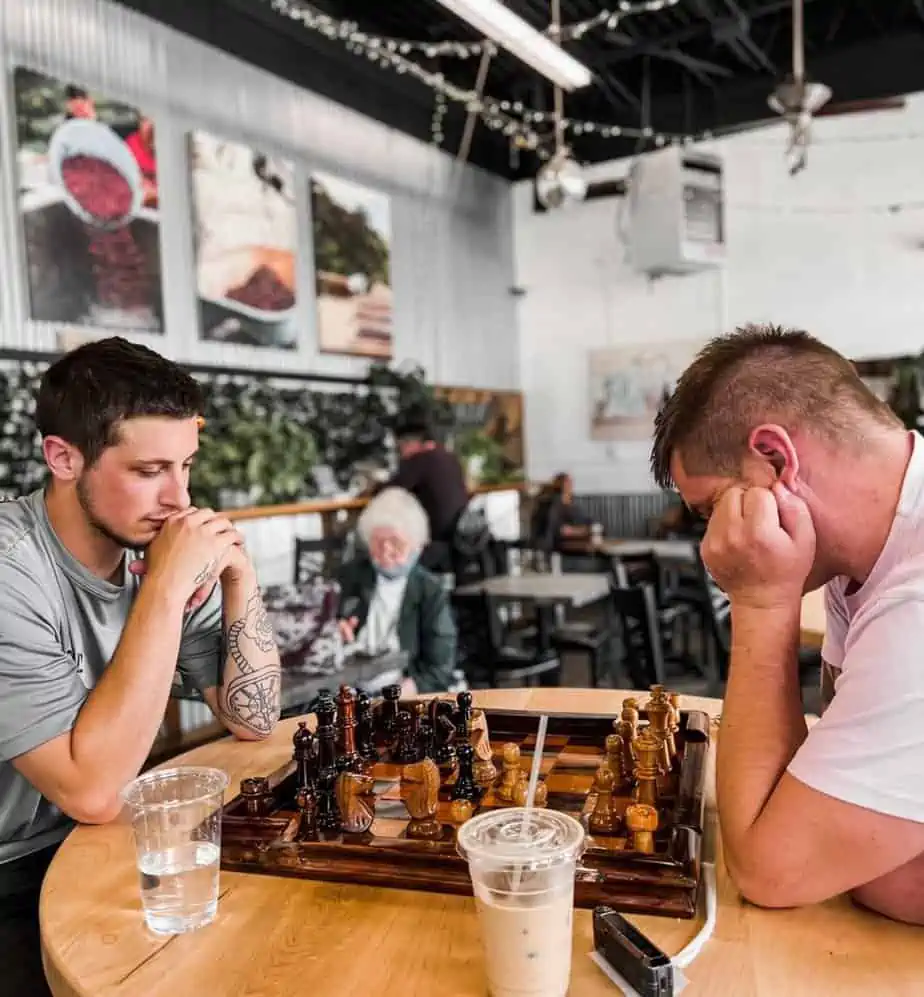
<path id="1" fill-rule="evenodd" d="M 180 366 L 121 336 L 86 343 L 45 371 L 35 421 L 45 436 L 60 436 L 93 465 L 118 442 L 125 419 L 189 419 L 203 409 L 202 389 Z"/>

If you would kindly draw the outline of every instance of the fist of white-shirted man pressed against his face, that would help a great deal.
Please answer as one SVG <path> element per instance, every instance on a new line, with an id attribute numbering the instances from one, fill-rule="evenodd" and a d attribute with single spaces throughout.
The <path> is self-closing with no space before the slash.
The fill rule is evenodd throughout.
<path id="1" fill-rule="evenodd" d="M 710 517 L 702 557 L 734 607 L 791 610 L 815 560 L 808 506 L 781 481 L 729 488 Z"/>

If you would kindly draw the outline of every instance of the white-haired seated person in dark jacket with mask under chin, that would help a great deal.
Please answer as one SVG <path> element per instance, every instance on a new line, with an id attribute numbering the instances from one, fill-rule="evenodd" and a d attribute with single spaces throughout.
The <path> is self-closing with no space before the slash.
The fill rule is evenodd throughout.
<path id="1" fill-rule="evenodd" d="M 456 628 L 442 583 L 418 563 L 427 515 L 410 492 L 386 488 L 356 524 L 364 548 L 340 569 L 340 628 L 355 651 L 407 655 L 402 695 L 453 681 Z"/>

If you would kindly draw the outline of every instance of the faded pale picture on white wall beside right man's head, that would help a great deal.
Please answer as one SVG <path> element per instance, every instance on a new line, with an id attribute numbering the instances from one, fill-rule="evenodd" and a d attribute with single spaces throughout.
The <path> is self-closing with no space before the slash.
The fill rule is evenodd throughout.
<path id="1" fill-rule="evenodd" d="M 646 440 L 700 340 L 590 351 L 590 438 Z"/>

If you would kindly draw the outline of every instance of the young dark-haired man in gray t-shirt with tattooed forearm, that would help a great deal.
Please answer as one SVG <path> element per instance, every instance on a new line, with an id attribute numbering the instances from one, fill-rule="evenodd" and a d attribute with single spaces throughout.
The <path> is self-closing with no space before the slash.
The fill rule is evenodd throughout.
<path id="1" fill-rule="evenodd" d="M 47 486 L 0 504 L 0 960 L 32 974 L 14 993 L 47 993 L 44 869 L 73 821 L 119 813 L 177 669 L 239 738 L 279 716 L 279 656 L 241 537 L 190 505 L 202 407 L 193 378 L 151 350 L 82 346 L 39 390 Z"/>

